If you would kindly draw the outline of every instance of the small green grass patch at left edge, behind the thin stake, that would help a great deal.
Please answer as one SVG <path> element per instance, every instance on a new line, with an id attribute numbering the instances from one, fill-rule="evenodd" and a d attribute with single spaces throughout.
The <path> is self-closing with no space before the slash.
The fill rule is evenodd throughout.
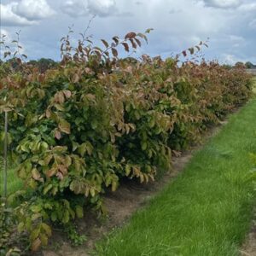
<path id="1" fill-rule="evenodd" d="M 17 177 L 15 168 L 9 168 L 7 172 L 7 193 L 14 193 L 22 187 L 22 181 Z M 0 159 L 0 195 L 3 195 L 3 160 Z"/>

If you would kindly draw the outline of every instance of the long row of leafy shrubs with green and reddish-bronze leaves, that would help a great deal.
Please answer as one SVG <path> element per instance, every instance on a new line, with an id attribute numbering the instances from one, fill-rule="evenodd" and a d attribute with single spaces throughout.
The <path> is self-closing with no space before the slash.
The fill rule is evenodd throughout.
<path id="1" fill-rule="evenodd" d="M 112 44 L 102 40 L 105 49 L 86 40 L 73 49 L 63 38 L 57 67 L 40 73 L 19 60 L 19 71 L 1 79 L 9 152 L 24 180 L 15 216 L 32 250 L 48 243 L 50 223 L 82 218 L 85 206 L 101 211 L 101 195 L 121 178 L 148 183 L 172 170 L 172 154 L 247 102 L 252 82 L 243 67 L 118 59 L 119 45 L 135 49 L 142 38 L 131 32 Z"/>

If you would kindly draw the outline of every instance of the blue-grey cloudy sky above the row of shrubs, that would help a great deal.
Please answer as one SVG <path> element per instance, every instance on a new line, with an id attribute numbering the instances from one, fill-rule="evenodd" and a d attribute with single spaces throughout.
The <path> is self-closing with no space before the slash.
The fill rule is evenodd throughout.
<path id="1" fill-rule="evenodd" d="M 207 59 L 256 64 L 256 1 L 253 0 L 0 0 L 1 33 L 20 42 L 30 59 L 60 59 L 60 38 L 73 25 L 95 40 L 124 37 L 152 27 L 137 53 L 166 57 L 209 39 Z"/>

